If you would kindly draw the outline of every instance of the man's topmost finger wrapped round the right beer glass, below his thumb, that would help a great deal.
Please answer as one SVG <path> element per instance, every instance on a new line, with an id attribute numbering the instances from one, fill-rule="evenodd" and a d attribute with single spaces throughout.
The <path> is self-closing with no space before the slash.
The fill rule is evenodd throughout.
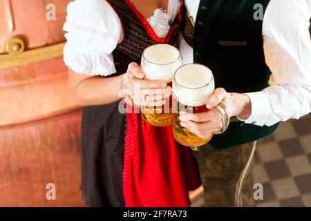
<path id="1" fill-rule="evenodd" d="M 217 121 L 221 122 L 223 116 L 221 113 L 216 109 L 213 108 L 207 112 L 203 113 L 186 113 L 182 112 L 180 113 L 179 119 L 182 122 L 185 121 L 193 121 L 193 122 L 211 122 L 211 121 Z"/>

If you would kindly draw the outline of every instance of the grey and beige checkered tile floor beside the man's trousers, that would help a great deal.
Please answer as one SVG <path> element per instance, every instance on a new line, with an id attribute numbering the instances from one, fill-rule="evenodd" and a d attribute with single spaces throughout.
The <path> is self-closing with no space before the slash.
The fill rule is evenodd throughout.
<path id="1" fill-rule="evenodd" d="M 311 116 L 281 123 L 260 142 L 255 162 L 264 193 L 256 206 L 311 207 Z"/>

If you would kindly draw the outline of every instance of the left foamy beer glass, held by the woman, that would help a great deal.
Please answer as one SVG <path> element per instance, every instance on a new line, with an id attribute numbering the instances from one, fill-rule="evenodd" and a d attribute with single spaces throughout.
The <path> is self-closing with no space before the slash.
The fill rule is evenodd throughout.
<path id="1" fill-rule="evenodd" d="M 146 48 L 140 64 L 147 80 L 160 80 L 171 85 L 173 75 L 182 66 L 178 48 L 168 44 L 155 44 Z M 142 118 L 153 126 L 173 124 L 172 97 L 162 106 L 141 106 Z"/>

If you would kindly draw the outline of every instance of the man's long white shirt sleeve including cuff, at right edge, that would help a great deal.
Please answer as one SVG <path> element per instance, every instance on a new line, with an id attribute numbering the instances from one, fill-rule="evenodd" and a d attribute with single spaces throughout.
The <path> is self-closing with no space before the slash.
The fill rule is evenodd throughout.
<path id="1" fill-rule="evenodd" d="M 271 126 L 311 112 L 310 0 L 272 0 L 263 20 L 265 60 L 272 71 L 268 88 L 247 93 L 247 124 Z"/>

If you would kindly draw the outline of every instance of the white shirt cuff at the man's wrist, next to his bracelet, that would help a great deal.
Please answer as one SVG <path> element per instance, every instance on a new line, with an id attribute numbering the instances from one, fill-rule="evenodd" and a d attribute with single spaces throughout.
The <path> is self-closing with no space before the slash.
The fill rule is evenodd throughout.
<path id="1" fill-rule="evenodd" d="M 245 122 L 245 124 L 264 126 L 272 113 L 272 109 L 267 95 L 265 95 L 265 93 L 263 93 L 262 91 L 245 93 L 245 95 L 247 95 L 251 101 L 252 113 L 247 119 L 238 119 Z"/>

